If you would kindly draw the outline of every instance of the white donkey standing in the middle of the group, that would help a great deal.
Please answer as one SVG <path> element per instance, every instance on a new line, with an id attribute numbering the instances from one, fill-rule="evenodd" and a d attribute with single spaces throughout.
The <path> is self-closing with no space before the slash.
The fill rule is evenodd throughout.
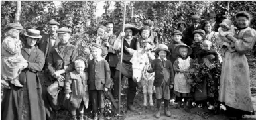
<path id="1" fill-rule="evenodd" d="M 151 54 L 147 49 L 147 46 L 143 49 L 133 52 L 133 57 L 130 62 L 133 68 L 133 80 L 135 82 L 140 82 L 143 86 L 143 109 L 147 107 L 147 94 L 149 94 L 149 106 L 153 107 L 153 82 L 155 79 L 155 72 L 148 73 L 147 66 L 150 65 L 150 60 L 155 59 L 154 54 Z"/>

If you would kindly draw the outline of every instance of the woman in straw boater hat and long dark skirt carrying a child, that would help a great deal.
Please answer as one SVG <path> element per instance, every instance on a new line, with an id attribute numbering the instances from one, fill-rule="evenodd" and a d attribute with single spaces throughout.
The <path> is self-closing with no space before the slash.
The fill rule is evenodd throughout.
<path id="1" fill-rule="evenodd" d="M 44 54 L 35 45 L 40 31 L 29 29 L 24 34 L 25 48 L 21 54 L 28 61 L 29 66 L 19 75 L 24 85 L 19 88 L 10 84 L 11 89 L 5 89 L 1 106 L 1 119 L 3 120 L 46 120 L 42 88 L 38 72 L 44 67 Z"/>

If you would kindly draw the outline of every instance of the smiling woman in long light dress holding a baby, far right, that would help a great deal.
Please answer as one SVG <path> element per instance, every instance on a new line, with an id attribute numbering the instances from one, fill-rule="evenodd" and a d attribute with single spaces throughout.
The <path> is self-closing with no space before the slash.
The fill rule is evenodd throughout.
<path id="1" fill-rule="evenodd" d="M 243 114 L 253 115 L 251 101 L 249 66 L 245 54 L 254 44 L 256 31 L 249 27 L 251 15 L 241 11 L 235 15 L 237 32 L 235 36 L 227 36 L 235 44 L 236 52 L 225 52 L 220 77 L 220 102 L 227 105 L 227 111 L 241 119 Z"/>

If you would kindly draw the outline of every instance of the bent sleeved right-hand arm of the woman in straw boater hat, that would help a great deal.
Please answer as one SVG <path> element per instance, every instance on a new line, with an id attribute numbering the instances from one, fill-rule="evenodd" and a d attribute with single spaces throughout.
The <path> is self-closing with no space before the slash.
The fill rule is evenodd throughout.
<path id="1" fill-rule="evenodd" d="M 42 71 L 42 68 L 44 68 L 44 64 L 45 64 L 44 53 L 42 53 L 39 49 L 38 51 L 39 52 L 37 52 L 38 56 L 36 57 L 36 61 L 29 62 L 29 66 L 27 67 L 32 72 L 40 72 Z"/>

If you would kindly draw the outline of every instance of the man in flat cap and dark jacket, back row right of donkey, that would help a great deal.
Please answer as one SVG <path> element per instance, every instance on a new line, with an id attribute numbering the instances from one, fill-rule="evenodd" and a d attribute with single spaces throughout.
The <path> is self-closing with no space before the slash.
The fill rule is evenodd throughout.
<path id="1" fill-rule="evenodd" d="M 184 40 L 184 43 L 188 46 L 191 46 L 193 43 L 193 40 L 194 40 L 194 36 L 193 36 L 192 32 L 194 30 L 202 29 L 202 27 L 201 27 L 202 25 L 200 25 L 200 23 L 199 23 L 200 16 L 193 15 L 191 17 L 191 19 L 192 19 L 192 25 L 190 25 L 190 27 L 188 27 L 187 32 L 185 33 L 186 39 Z"/>

